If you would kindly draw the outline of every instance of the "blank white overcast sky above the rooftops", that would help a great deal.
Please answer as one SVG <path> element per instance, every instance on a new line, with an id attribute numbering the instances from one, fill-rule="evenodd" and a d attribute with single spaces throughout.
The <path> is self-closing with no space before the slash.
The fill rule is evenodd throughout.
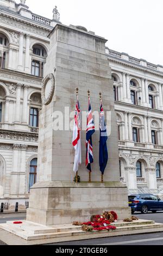
<path id="1" fill-rule="evenodd" d="M 17 3 L 20 0 L 16 0 Z M 108 39 L 106 46 L 163 65 L 162 0 L 27 0 L 29 9 L 61 22 L 81 25 Z"/>

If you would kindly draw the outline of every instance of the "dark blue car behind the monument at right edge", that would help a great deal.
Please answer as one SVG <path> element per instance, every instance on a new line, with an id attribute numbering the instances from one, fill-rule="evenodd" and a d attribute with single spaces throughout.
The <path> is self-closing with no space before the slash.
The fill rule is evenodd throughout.
<path id="1" fill-rule="evenodd" d="M 128 197 L 128 203 L 132 214 L 135 211 L 147 214 L 148 211 L 156 212 L 163 210 L 163 201 L 153 194 L 131 194 Z"/>

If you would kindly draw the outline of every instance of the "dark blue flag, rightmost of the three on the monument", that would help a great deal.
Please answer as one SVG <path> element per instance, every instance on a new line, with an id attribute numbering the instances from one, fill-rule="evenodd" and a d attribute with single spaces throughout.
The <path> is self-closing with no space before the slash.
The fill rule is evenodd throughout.
<path id="1" fill-rule="evenodd" d="M 102 100 L 101 100 L 101 107 L 100 107 L 99 128 L 100 128 L 99 167 L 100 167 L 102 174 L 104 174 L 106 165 L 108 163 L 108 148 L 107 148 L 107 144 L 106 144 L 108 135 L 107 135 L 106 126 L 105 126 L 105 117 L 104 117 Z"/>

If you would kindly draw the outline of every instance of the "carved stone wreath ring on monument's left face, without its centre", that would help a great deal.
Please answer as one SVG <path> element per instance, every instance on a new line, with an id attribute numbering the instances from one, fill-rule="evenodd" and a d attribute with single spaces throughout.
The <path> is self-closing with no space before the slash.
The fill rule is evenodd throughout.
<path id="1" fill-rule="evenodd" d="M 47 83 L 49 80 L 52 80 L 52 85 L 51 85 L 51 89 L 48 93 L 48 97 L 45 96 L 45 89 L 47 86 Z M 53 95 L 54 95 L 54 89 L 55 89 L 55 78 L 53 76 L 53 74 L 49 74 L 47 75 L 44 79 L 43 79 L 43 87 L 42 87 L 42 91 L 41 91 L 41 98 L 42 98 L 42 103 L 44 105 L 48 105 L 49 103 L 51 103 Z"/>

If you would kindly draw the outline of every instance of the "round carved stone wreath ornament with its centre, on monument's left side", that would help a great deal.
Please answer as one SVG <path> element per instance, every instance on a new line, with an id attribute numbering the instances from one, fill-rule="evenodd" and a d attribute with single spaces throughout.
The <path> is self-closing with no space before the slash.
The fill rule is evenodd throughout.
<path id="1" fill-rule="evenodd" d="M 43 87 L 41 92 L 42 103 L 48 105 L 51 103 L 55 89 L 55 78 L 53 74 L 47 75 L 43 79 Z"/>

